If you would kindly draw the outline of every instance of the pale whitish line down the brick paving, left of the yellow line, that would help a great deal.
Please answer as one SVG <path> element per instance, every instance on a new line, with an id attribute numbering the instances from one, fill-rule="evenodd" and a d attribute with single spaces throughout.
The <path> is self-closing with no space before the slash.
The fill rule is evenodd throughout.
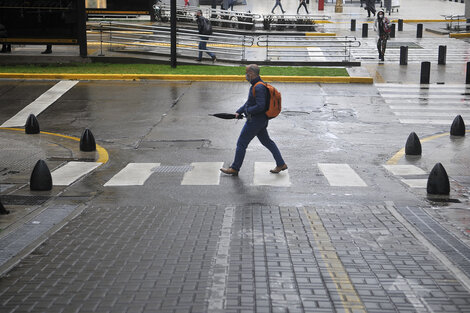
<path id="1" fill-rule="evenodd" d="M 212 284 L 207 291 L 209 293 L 207 311 L 211 313 L 223 312 L 226 308 L 226 289 L 234 211 L 235 207 L 225 208 L 217 252 L 212 262 L 213 266 L 209 270 L 209 278 L 212 280 Z"/>

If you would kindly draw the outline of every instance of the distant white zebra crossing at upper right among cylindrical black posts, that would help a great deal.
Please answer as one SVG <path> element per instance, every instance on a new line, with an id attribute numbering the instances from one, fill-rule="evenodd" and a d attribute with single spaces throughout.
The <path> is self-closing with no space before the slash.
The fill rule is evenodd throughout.
<path id="1" fill-rule="evenodd" d="M 397 34 L 398 36 L 398 34 Z M 400 63 L 400 46 L 408 46 L 408 64 L 421 63 L 429 61 L 437 64 L 438 46 L 447 46 L 446 63 L 466 63 L 468 62 L 468 54 L 470 45 L 462 40 L 455 38 L 440 38 L 438 42 L 435 40 L 419 40 L 416 38 L 392 38 L 387 43 L 387 51 L 385 53 L 385 61 L 387 63 Z M 360 47 L 352 47 L 351 56 L 355 61 L 361 63 L 375 63 L 379 61 L 377 52 L 377 39 L 362 38 Z"/>

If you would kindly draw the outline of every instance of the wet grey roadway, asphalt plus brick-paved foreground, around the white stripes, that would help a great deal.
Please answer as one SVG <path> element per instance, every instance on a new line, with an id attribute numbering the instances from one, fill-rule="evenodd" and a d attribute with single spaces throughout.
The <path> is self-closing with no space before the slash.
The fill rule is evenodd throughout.
<path id="1" fill-rule="evenodd" d="M 0 82 L 0 121 L 55 83 Z M 411 131 L 428 137 L 450 125 L 400 123 L 373 85 L 275 86 L 284 110 L 269 132 L 290 187 L 254 185 L 255 163 L 272 162 L 257 139 L 239 177 L 181 185 L 181 167 L 193 162 L 230 165 L 243 121 L 208 114 L 235 111 L 247 83 L 80 82 L 40 114 L 44 131 L 91 129 L 110 157 L 54 187 L 62 202 L 87 199 L 85 210 L 0 280 L 6 312 L 467 311 L 468 291 L 452 271 L 465 270 L 467 252 L 463 266 L 444 266 L 391 209 L 419 227 L 405 209 L 422 210 L 468 242 L 459 224 L 468 216 L 465 139 L 431 140 L 421 158 L 398 161 L 426 172 L 446 166 L 461 203 L 431 202 L 383 165 Z M 128 163 L 169 171 L 143 186 L 103 186 Z M 348 164 L 366 186 L 330 186 L 321 163 Z"/>

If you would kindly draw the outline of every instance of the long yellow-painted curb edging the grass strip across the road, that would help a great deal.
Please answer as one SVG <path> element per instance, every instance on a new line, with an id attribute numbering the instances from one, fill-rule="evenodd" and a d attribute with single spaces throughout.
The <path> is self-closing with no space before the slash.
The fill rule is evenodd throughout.
<path id="1" fill-rule="evenodd" d="M 267 76 L 268 82 L 286 83 L 359 83 L 373 84 L 372 77 L 349 76 Z M 227 81 L 242 82 L 242 75 L 172 75 L 172 74 L 36 74 L 36 73 L 0 73 L 0 78 L 10 79 L 66 79 L 66 80 L 168 80 L 168 81 Z"/>

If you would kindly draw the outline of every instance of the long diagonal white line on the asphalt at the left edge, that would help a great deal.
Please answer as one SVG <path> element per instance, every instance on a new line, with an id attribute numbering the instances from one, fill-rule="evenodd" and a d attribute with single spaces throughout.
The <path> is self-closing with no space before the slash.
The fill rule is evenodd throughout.
<path id="1" fill-rule="evenodd" d="M 18 112 L 15 116 L 2 124 L 0 127 L 22 127 L 25 125 L 26 120 L 30 114 L 36 117 L 51 104 L 57 101 L 62 95 L 75 86 L 78 81 L 63 80 L 55 84 L 51 89 L 43 93 L 39 98 L 27 105 L 23 110 Z"/>

